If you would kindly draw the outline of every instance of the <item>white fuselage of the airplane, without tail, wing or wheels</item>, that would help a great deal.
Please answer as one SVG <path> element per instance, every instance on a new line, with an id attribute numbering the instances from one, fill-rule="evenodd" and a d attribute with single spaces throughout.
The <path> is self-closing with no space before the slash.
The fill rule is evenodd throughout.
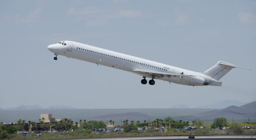
<path id="1" fill-rule="evenodd" d="M 66 56 L 68 58 L 75 58 L 78 60 L 84 60 L 87 62 L 92 62 L 99 65 L 108 66 L 111 68 L 117 68 L 120 70 L 125 70 L 141 76 L 145 76 L 148 78 L 152 78 L 152 76 L 147 74 L 136 73 L 133 71 L 133 68 L 151 70 L 155 72 L 173 73 L 173 74 L 181 74 L 182 72 L 184 72 L 185 74 L 191 74 L 195 76 L 195 77 L 187 76 L 182 78 L 180 76 L 154 77 L 154 79 L 160 79 L 168 82 L 173 82 L 176 84 L 183 84 L 183 85 L 190 85 L 190 86 L 204 86 L 204 80 L 208 80 L 209 82 L 208 85 L 221 86 L 221 82 L 209 76 L 206 76 L 200 72 L 185 70 L 185 69 L 170 66 L 167 64 L 162 64 L 162 63 L 154 62 L 151 60 L 146 60 L 143 58 L 138 58 L 135 56 L 130 56 L 127 54 L 122 54 L 119 52 L 114 52 L 111 50 L 106 50 L 106 49 L 102 49 L 102 48 L 98 48 L 98 47 L 94 47 L 94 46 L 90 46 L 87 44 L 82 44 L 74 41 L 65 41 L 65 43 L 66 45 L 62 45 L 60 43 L 49 45 L 48 49 L 55 54 Z"/>

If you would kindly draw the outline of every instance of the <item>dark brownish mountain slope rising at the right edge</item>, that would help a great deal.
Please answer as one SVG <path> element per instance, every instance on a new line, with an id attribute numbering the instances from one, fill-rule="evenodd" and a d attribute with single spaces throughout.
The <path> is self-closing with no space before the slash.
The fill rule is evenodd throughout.
<path id="1" fill-rule="evenodd" d="M 204 118 L 204 119 L 214 119 L 218 117 L 225 117 L 227 119 L 246 119 L 246 118 L 256 118 L 256 101 L 245 104 L 243 106 L 229 106 L 221 110 L 211 110 L 207 112 L 201 112 L 198 114 L 179 116 L 175 119 L 194 119 L 194 118 Z"/>

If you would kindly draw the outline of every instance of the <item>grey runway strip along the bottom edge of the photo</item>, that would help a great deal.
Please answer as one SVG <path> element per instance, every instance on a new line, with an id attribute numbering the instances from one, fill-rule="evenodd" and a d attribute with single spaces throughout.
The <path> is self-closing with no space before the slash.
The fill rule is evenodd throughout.
<path id="1" fill-rule="evenodd" d="M 138 136 L 138 137 L 111 137 L 111 138 L 77 138 L 68 140 L 182 140 L 189 136 Z M 192 138 L 190 138 L 192 139 Z M 256 140 L 256 135 L 214 135 L 194 136 L 194 139 L 207 140 Z M 67 139 L 65 139 L 67 140 Z"/>

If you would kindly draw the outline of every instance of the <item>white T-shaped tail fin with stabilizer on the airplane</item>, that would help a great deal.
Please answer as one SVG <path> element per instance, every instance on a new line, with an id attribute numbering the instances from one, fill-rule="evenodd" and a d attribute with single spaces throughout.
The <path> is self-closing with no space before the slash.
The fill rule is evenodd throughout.
<path id="1" fill-rule="evenodd" d="M 202 74 L 210 76 L 215 80 L 220 80 L 220 78 L 226 75 L 232 68 L 241 68 L 241 67 L 235 66 L 233 64 L 229 64 L 224 61 L 219 61 L 217 64 L 212 66 L 212 68 L 209 68 L 205 72 L 202 72 Z M 250 70 L 247 68 L 242 68 L 242 69 Z"/>

